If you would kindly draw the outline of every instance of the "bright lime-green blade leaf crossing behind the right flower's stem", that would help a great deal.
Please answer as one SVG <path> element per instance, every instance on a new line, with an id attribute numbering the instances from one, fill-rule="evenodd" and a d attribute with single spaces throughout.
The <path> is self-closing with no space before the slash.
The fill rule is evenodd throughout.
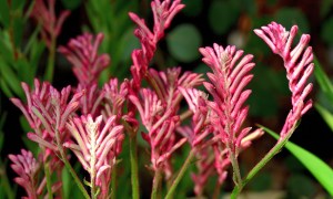
<path id="1" fill-rule="evenodd" d="M 278 134 L 269 128 L 264 128 L 274 138 L 279 138 Z M 306 169 L 316 178 L 316 180 L 326 189 L 330 196 L 333 196 L 333 170 L 323 160 L 317 158 L 312 153 L 303 149 L 302 147 L 287 142 L 285 148 L 290 150 L 305 167 Z"/>

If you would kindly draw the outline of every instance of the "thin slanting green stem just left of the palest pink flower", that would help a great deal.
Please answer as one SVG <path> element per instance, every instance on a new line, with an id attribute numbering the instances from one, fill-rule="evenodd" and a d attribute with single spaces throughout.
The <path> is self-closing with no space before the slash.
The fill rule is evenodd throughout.
<path id="1" fill-rule="evenodd" d="M 89 193 L 87 192 L 84 186 L 82 185 L 81 180 L 79 179 L 75 170 L 73 169 L 73 167 L 71 166 L 71 164 L 67 159 L 67 156 L 65 156 L 65 154 L 63 151 L 63 148 L 62 148 L 62 145 L 61 145 L 61 142 L 60 142 L 60 137 L 59 137 L 59 132 L 58 130 L 56 130 L 56 140 L 57 140 L 58 149 L 60 151 L 61 160 L 63 161 L 65 168 L 70 171 L 72 178 L 74 179 L 77 186 L 81 190 L 83 197 L 85 199 L 90 199 Z"/>

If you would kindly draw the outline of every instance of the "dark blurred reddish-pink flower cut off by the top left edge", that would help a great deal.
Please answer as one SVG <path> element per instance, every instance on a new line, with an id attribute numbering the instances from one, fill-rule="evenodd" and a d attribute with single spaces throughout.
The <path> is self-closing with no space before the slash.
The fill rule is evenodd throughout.
<path id="1" fill-rule="evenodd" d="M 56 0 L 47 1 L 46 4 L 43 0 L 36 0 L 31 15 L 42 24 L 42 38 L 50 48 L 51 41 L 60 34 L 62 23 L 69 17 L 70 11 L 62 11 L 57 18 L 54 11 Z"/>

